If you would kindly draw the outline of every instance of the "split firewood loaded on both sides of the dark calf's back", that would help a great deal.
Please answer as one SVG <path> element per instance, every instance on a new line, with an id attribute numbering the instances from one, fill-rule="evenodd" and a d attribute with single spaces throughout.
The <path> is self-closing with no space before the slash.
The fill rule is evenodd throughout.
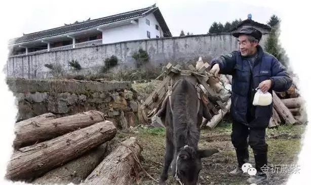
<path id="1" fill-rule="evenodd" d="M 157 116 L 175 82 L 185 78 L 193 85 L 198 85 L 198 93 L 200 93 L 201 99 L 208 107 L 209 114 L 212 116 L 211 120 L 204 119 L 201 127 L 208 126 L 214 128 L 225 114 L 229 112 L 231 104 L 231 77 L 220 75 L 219 78 L 215 78 L 209 73 L 210 69 L 209 63 L 203 62 L 201 57 L 197 65 L 189 65 L 188 70 L 181 69 L 179 64 L 173 66 L 171 63 L 168 63 L 164 71 L 164 80 L 140 106 L 142 119 L 147 123 Z"/>

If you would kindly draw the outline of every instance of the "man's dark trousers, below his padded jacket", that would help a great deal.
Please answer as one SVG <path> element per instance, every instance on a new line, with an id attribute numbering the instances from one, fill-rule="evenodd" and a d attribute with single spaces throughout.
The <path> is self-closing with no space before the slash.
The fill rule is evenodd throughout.
<path id="1" fill-rule="evenodd" d="M 265 128 L 250 128 L 245 124 L 233 121 L 231 142 L 235 146 L 239 167 L 249 161 L 248 145 L 251 146 L 255 158 L 257 173 L 267 165 L 268 145 L 265 143 Z"/>

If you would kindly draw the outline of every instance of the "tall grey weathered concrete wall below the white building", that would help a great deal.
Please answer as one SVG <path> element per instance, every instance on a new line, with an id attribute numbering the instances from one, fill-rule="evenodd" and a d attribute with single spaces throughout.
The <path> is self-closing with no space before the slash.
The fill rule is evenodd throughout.
<path id="1" fill-rule="evenodd" d="M 260 44 L 264 46 L 267 34 L 264 34 Z M 135 40 L 48 52 L 23 57 L 11 57 L 7 60 L 5 72 L 8 77 L 48 78 L 50 69 L 45 64 L 58 64 L 67 72 L 71 69 L 68 61 L 77 60 L 83 70 L 82 74 L 94 74 L 104 65 L 104 60 L 111 55 L 119 59 L 117 69 L 135 67 L 132 54 L 139 48 L 149 54 L 151 66 L 165 65 L 168 62 L 188 62 L 197 60 L 199 56 L 210 60 L 218 55 L 238 49 L 237 39 L 229 33 L 188 35 L 171 38 Z"/>

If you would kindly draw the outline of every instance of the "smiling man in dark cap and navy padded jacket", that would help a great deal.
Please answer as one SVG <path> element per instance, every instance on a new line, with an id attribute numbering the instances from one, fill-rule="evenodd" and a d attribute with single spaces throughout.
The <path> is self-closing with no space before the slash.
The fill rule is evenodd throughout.
<path id="1" fill-rule="evenodd" d="M 211 72 L 232 75 L 231 115 L 233 119 L 231 142 L 236 149 L 238 167 L 231 175 L 241 175 L 242 165 L 249 160 L 248 144 L 253 149 L 257 174 L 250 177 L 250 183 L 261 183 L 267 178 L 268 145 L 265 143 L 265 129 L 272 115 L 272 103 L 268 106 L 254 106 L 253 98 L 258 87 L 262 92 L 286 91 L 292 84 L 285 67 L 271 54 L 258 45 L 262 33 L 243 26 L 233 33 L 238 38 L 239 50 L 221 55 L 211 61 Z M 249 136 L 249 138 L 248 138 Z"/>

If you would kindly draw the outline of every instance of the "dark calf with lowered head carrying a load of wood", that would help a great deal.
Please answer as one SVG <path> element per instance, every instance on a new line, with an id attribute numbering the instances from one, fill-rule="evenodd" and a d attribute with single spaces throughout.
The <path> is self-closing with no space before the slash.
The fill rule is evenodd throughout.
<path id="1" fill-rule="evenodd" d="M 187 80 L 176 82 L 166 106 L 158 113 L 166 126 L 166 152 L 160 184 L 165 184 L 168 169 L 180 184 L 197 184 L 202 169 L 201 158 L 216 149 L 198 150 L 203 117 L 210 120 L 207 107 L 198 97 L 197 89 Z"/>

